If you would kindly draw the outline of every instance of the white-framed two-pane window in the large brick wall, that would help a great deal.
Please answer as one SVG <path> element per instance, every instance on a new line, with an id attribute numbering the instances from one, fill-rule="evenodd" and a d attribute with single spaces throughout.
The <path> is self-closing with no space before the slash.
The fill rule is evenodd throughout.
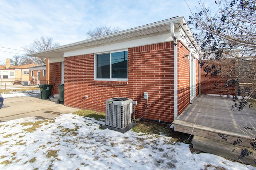
<path id="1" fill-rule="evenodd" d="M 94 79 L 128 81 L 128 50 L 95 54 Z"/>

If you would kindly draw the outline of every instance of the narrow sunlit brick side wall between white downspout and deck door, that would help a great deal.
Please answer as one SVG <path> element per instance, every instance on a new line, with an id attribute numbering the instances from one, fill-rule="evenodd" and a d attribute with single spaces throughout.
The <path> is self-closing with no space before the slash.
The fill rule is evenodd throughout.
<path id="1" fill-rule="evenodd" d="M 178 42 L 178 115 L 190 103 L 189 58 L 184 57 L 188 52 L 188 49 Z"/>

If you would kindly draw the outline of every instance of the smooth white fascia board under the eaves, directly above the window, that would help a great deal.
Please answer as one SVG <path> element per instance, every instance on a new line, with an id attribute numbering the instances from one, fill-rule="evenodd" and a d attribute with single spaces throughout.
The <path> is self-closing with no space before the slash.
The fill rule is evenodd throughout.
<path id="1" fill-rule="evenodd" d="M 70 56 L 76 56 L 76 55 L 84 55 L 84 54 L 92 54 L 92 53 L 104 53 L 109 51 L 116 51 L 120 49 L 128 49 L 131 47 L 138 47 L 142 45 L 150 45 L 155 43 L 162 43 L 162 42 L 168 42 L 173 41 L 172 36 L 170 35 L 169 31 L 166 31 L 164 34 L 157 34 L 157 35 L 147 35 L 140 37 L 138 39 L 129 39 L 124 41 L 116 41 L 113 43 L 106 43 L 94 47 L 88 47 L 86 49 L 80 49 L 75 51 L 67 51 L 64 52 L 64 57 L 70 57 Z"/>

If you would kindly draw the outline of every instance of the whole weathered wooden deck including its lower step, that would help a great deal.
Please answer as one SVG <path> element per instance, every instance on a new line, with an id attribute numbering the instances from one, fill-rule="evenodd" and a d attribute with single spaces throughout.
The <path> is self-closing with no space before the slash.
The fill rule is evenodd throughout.
<path id="1" fill-rule="evenodd" d="M 246 107 L 232 111 L 233 104 L 232 99 L 200 95 L 174 120 L 174 131 L 194 135 L 194 149 L 255 164 L 252 154 L 244 159 L 238 157 L 241 149 L 246 148 L 256 158 L 250 145 L 256 137 L 256 109 Z M 242 142 L 232 145 L 238 139 Z"/>

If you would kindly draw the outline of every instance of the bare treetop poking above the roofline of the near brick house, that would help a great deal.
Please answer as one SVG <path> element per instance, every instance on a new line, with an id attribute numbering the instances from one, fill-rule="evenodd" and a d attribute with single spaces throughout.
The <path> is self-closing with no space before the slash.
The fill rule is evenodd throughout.
<path id="1" fill-rule="evenodd" d="M 96 27 L 94 30 L 88 31 L 86 35 L 88 35 L 89 38 L 101 37 L 103 35 L 116 33 L 120 31 L 120 29 L 121 29 L 120 27 L 114 27 L 114 28 L 107 27 L 107 26 Z"/>

